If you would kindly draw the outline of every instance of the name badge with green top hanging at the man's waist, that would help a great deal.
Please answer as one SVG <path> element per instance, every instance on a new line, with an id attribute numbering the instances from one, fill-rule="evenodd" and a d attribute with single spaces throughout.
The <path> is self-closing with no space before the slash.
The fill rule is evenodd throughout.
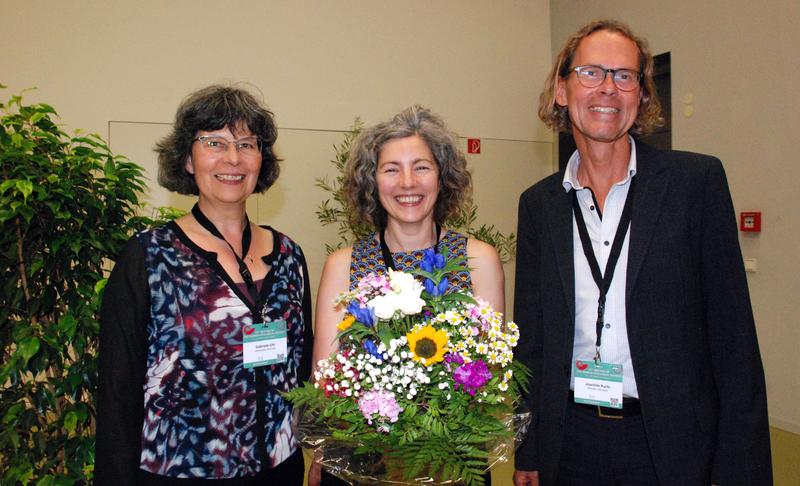
<path id="1" fill-rule="evenodd" d="M 622 408 L 622 365 L 576 359 L 575 403 Z"/>

